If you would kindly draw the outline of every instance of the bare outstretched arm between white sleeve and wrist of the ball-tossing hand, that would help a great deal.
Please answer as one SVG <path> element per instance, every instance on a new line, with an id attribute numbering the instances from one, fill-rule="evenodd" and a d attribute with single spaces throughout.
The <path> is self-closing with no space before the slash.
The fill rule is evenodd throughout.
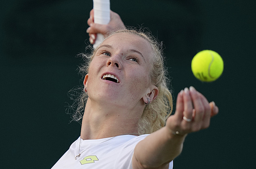
<path id="1" fill-rule="evenodd" d="M 174 135 L 164 127 L 137 144 L 135 160 L 144 168 L 162 166 L 181 153 L 184 139 L 185 135 Z"/>

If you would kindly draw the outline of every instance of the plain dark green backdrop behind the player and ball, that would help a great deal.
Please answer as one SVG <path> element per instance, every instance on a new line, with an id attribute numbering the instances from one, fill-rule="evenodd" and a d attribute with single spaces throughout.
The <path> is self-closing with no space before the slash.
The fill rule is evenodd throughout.
<path id="1" fill-rule="evenodd" d="M 91 8 L 92 0 L 0 2 L 0 168 L 50 168 L 79 137 L 65 109 L 67 92 L 82 85 L 76 55 L 88 44 Z M 111 0 L 126 25 L 164 42 L 175 98 L 192 85 L 219 106 L 208 129 L 188 135 L 174 169 L 255 167 L 255 8 L 254 0 Z M 224 60 L 215 82 L 191 72 L 204 49 Z"/>

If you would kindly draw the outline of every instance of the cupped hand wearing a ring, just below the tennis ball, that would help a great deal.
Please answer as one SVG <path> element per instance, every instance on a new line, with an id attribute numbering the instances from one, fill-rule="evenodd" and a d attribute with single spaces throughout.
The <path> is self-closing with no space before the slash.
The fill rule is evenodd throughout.
<path id="1" fill-rule="evenodd" d="M 208 102 L 206 97 L 196 91 L 194 87 L 180 91 L 176 101 L 176 112 L 170 116 L 168 127 L 172 133 L 181 135 L 206 129 L 210 125 L 210 118 L 218 113 L 214 102 Z"/>

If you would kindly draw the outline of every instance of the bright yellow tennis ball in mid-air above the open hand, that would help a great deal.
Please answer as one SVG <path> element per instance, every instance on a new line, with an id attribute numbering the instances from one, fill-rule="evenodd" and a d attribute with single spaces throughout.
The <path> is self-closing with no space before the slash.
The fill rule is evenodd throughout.
<path id="1" fill-rule="evenodd" d="M 223 67 L 221 56 L 210 50 L 197 53 L 191 62 L 194 76 L 203 82 L 212 82 L 219 78 L 223 72 Z"/>

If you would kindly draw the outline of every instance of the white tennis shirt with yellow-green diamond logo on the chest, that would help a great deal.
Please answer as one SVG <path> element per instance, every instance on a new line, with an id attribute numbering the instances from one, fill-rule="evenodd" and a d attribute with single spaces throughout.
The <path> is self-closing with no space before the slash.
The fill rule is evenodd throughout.
<path id="1" fill-rule="evenodd" d="M 134 148 L 147 136 L 120 135 L 87 140 L 79 137 L 52 169 L 132 169 Z M 79 143 L 81 155 L 75 160 Z M 173 161 L 169 164 L 169 169 L 172 168 Z"/>

